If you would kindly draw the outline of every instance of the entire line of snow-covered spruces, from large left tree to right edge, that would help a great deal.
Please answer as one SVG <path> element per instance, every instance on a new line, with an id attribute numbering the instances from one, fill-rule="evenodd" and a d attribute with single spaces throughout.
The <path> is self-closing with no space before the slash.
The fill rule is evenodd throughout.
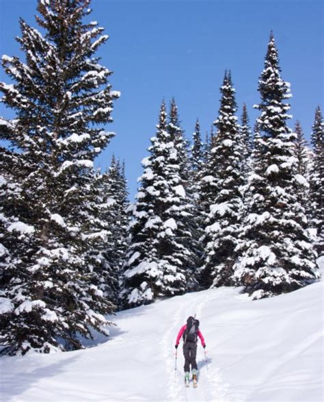
<path id="1" fill-rule="evenodd" d="M 118 308 L 157 297 L 244 286 L 254 299 L 319 277 L 323 252 L 323 118 L 312 149 L 297 123 L 271 35 L 254 132 L 241 123 L 230 72 L 219 114 L 192 145 L 176 102 L 161 104 L 136 201 L 124 164 L 94 160 L 113 133 L 119 92 L 96 51 L 107 40 L 84 23 L 90 0 L 39 0 L 37 29 L 21 20 L 25 61 L 4 55 L 0 83 L 14 118 L 0 119 L 1 353 L 82 348 L 108 334 Z M 168 109 L 168 110 L 167 110 Z M 317 253 L 316 253 L 317 251 Z"/>

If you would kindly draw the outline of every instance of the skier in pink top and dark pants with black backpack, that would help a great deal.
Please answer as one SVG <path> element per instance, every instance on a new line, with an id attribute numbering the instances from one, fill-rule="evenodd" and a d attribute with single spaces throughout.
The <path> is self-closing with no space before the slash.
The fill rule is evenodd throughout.
<path id="1" fill-rule="evenodd" d="M 178 336 L 176 337 L 176 349 L 178 349 L 181 336 L 183 337 L 183 355 L 185 356 L 185 384 L 186 386 L 189 386 L 189 372 L 191 364 L 193 386 L 196 387 L 198 369 L 197 362 L 195 361 L 195 357 L 197 355 L 197 336 L 199 336 L 200 341 L 202 342 L 202 347 L 206 347 L 204 337 L 199 329 L 199 321 L 192 316 L 187 319 L 187 325 L 183 325 L 183 327 L 180 328 Z"/>

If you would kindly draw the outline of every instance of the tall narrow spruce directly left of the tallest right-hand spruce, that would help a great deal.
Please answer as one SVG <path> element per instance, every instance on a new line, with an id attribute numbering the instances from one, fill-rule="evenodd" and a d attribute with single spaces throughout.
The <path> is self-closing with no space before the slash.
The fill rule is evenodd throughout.
<path id="1" fill-rule="evenodd" d="M 204 286 L 232 283 L 232 266 L 238 244 L 243 209 L 240 191 L 244 183 L 241 171 L 243 153 L 237 103 L 230 73 L 226 73 L 221 91 L 219 116 L 215 121 L 217 136 L 207 166 L 209 174 L 202 181 L 209 185 L 209 213 L 205 221 L 205 255 L 201 268 Z"/>

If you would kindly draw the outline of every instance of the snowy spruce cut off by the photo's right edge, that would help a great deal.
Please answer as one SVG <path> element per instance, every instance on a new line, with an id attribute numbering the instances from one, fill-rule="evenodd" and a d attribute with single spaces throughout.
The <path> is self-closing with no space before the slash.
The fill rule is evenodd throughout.
<path id="1" fill-rule="evenodd" d="M 324 123 L 321 109 L 316 109 L 312 126 L 312 168 L 310 171 L 310 227 L 316 229 L 316 251 L 324 254 Z"/>

